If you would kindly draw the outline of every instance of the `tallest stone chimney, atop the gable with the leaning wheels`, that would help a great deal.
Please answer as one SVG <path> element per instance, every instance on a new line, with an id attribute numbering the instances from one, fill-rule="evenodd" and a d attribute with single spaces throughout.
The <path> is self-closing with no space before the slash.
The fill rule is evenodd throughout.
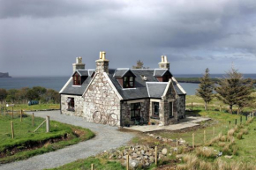
<path id="1" fill-rule="evenodd" d="M 106 52 L 100 51 L 100 59 L 96 60 L 96 73 L 106 72 L 109 74 L 109 60 L 106 59 Z"/>

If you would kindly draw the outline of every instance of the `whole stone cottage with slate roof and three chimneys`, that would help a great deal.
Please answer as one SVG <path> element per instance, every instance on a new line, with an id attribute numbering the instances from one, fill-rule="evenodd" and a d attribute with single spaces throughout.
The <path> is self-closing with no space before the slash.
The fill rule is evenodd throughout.
<path id="1" fill-rule="evenodd" d="M 95 70 L 86 70 L 78 57 L 72 77 L 59 93 L 61 113 L 88 122 L 169 125 L 184 118 L 186 92 L 169 72 L 165 55 L 158 69 L 115 70 L 109 69 L 105 52 L 100 52 Z"/>

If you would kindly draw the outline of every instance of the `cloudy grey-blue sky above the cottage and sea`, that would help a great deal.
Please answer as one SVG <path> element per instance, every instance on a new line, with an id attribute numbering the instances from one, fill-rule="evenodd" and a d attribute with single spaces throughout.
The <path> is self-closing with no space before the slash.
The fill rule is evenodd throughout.
<path id="1" fill-rule="evenodd" d="M 256 73 L 255 0 L 0 0 L 0 72 L 71 76 L 81 56 L 95 68 L 138 60 L 175 74 Z"/>

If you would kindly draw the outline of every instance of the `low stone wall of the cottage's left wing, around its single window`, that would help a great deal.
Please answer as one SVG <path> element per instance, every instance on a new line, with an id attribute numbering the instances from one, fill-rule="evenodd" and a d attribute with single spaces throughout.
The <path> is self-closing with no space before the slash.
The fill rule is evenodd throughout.
<path id="1" fill-rule="evenodd" d="M 74 111 L 68 110 L 68 98 L 74 98 Z M 74 95 L 67 95 L 67 94 L 61 94 L 61 112 L 64 115 L 76 115 L 76 116 L 83 116 L 83 98 L 82 96 L 74 96 Z"/>

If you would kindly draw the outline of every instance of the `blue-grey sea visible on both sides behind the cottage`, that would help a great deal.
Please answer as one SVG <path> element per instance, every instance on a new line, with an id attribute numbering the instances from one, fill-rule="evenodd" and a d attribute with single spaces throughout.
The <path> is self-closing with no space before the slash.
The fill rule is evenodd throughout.
<path id="1" fill-rule="evenodd" d="M 177 74 L 175 78 L 201 78 L 202 74 Z M 211 74 L 211 78 L 223 78 L 223 74 Z M 20 89 L 22 87 L 43 86 L 45 88 L 54 89 L 59 92 L 70 77 L 13 77 L 0 78 L 0 88 L 4 89 Z M 256 74 L 244 74 L 244 78 L 256 79 Z M 194 95 L 199 84 L 179 83 L 187 95 Z"/>

